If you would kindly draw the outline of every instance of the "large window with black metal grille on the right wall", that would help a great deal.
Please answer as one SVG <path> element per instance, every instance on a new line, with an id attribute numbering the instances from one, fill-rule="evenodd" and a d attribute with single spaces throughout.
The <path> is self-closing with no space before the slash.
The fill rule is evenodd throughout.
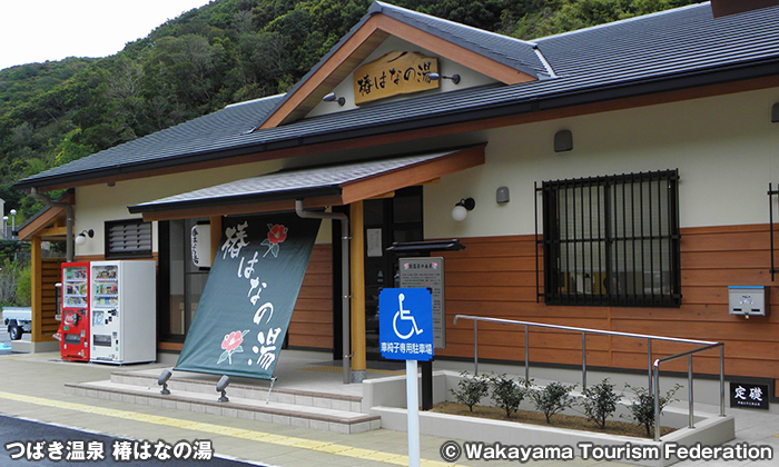
<path id="1" fill-rule="evenodd" d="M 678 307 L 677 170 L 544 181 L 549 305 Z"/>

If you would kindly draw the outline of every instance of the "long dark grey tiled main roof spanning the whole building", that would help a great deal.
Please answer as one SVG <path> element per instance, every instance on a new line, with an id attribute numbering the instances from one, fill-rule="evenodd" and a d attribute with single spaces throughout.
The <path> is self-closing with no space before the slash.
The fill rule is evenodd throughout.
<path id="1" fill-rule="evenodd" d="M 379 4 L 373 8 L 388 7 Z M 422 17 L 414 20 L 422 21 Z M 432 28 L 431 24 L 425 27 Z M 778 74 L 779 7 L 713 19 L 708 3 L 696 4 L 535 42 L 559 74 L 556 78 L 423 96 L 246 132 L 282 100 L 280 97 L 268 98 L 247 103 L 245 110 L 250 110 L 250 115 L 238 116 L 236 111 L 237 121 L 223 120 L 231 119 L 230 109 L 240 107 L 228 108 L 29 177 L 19 186 L 91 178 L 89 171 L 121 170 L 134 163 L 148 167 L 149 163 L 177 163 L 181 159 L 196 160 L 198 157 L 262 152 Z M 209 137 L 181 137 L 198 133 L 197 127 L 210 119 L 224 123 L 219 123 L 219 130 Z"/>

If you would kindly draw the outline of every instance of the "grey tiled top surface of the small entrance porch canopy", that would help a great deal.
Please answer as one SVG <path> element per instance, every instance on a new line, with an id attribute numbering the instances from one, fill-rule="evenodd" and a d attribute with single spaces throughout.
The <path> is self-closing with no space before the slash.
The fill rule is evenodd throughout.
<path id="1" fill-rule="evenodd" d="M 152 207 L 169 207 L 181 203 L 213 201 L 236 197 L 292 197 L 295 193 L 314 190 L 326 193 L 339 193 L 341 186 L 359 179 L 407 168 L 448 156 L 452 151 L 421 156 L 406 156 L 394 159 L 344 163 L 338 166 L 315 167 L 308 169 L 283 170 L 259 177 L 230 181 L 215 187 L 203 188 L 187 193 L 132 206 L 131 212 L 144 212 Z"/>

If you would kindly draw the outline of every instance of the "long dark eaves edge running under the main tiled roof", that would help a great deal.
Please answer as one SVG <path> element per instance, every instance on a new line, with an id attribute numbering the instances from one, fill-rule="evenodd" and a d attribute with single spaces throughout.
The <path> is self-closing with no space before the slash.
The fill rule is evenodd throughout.
<path id="1" fill-rule="evenodd" d="M 473 103 L 451 109 L 437 110 L 435 113 L 414 116 L 411 118 L 396 118 L 366 126 L 349 126 L 343 129 L 335 129 L 319 132 L 298 133 L 294 131 L 294 125 L 283 127 L 288 131 L 284 135 L 246 145 L 220 150 L 199 151 L 184 153 L 176 157 L 142 161 L 131 165 L 92 169 L 82 172 L 55 175 L 51 177 L 34 177 L 17 182 L 17 189 L 58 189 L 73 186 L 93 185 L 102 181 L 117 179 L 141 178 L 155 175 L 180 172 L 184 167 L 187 170 L 197 170 L 209 167 L 224 166 L 226 163 L 245 163 L 249 161 L 269 160 L 278 158 L 295 157 L 303 153 L 310 153 L 307 147 L 321 145 L 316 148 L 318 152 L 337 150 L 339 141 L 352 140 L 352 147 L 372 146 L 369 140 L 358 141 L 363 138 L 371 138 L 385 135 L 397 135 L 402 132 L 431 129 L 435 127 L 444 128 L 441 133 L 446 133 L 445 127 L 451 126 L 450 133 L 462 131 L 456 123 L 475 122 L 490 120 L 486 128 L 513 125 L 510 120 L 500 118 L 517 115 L 532 115 L 543 110 L 555 110 L 563 108 L 574 108 L 594 105 L 620 99 L 629 99 L 641 96 L 661 95 L 665 92 L 680 91 L 686 89 L 702 88 L 723 83 L 732 83 L 733 90 L 712 88 L 708 95 L 736 92 L 739 90 L 738 82 L 756 79 L 766 79 L 755 86 L 746 85 L 748 89 L 760 89 L 779 86 L 779 57 L 759 59 L 755 61 L 742 61 L 714 68 L 689 70 L 684 72 L 641 78 L 632 81 L 607 81 L 604 83 L 591 83 L 588 86 L 580 82 L 580 79 L 566 81 L 559 79 L 559 85 L 538 96 L 523 96 L 521 98 L 493 99 L 486 103 Z M 584 78 L 582 78 L 583 80 Z M 551 80 L 550 80 L 551 81 Z M 529 86 L 529 85 L 516 85 Z M 504 90 L 507 88 L 501 88 Z M 693 96 L 699 97 L 699 96 Z M 692 97 L 673 97 L 667 101 L 690 99 Z M 663 102 L 662 96 L 654 99 L 652 103 Z M 648 105 L 648 103 L 642 103 Z M 629 107 L 629 106 L 627 106 Z M 623 107 L 623 108 L 627 108 Z M 359 110 L 359 109 L 358 109 Z M 576 115 L 594 113 L 603 111 L 595 106 L 592 109 L 582 109 Z M 532 120 L 532 119 L 531 119 Z M 269 129 L 265 131 L 273 131 Z M 264 131 L 255 132 L 262 137 Z M 416 132 L 414 139 L 423 139 L 428 132 Z M 304 150 L 304 148 L 306 148 Z"/>

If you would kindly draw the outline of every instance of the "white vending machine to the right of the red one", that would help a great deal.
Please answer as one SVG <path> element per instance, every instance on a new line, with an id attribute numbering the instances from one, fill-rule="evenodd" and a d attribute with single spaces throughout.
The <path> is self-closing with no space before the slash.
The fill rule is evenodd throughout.
<path id="1" fill-rule="evenodd" d="M 155 261 L 90 264 L 90 361 L 139 364 L 157 360 Z"/>

